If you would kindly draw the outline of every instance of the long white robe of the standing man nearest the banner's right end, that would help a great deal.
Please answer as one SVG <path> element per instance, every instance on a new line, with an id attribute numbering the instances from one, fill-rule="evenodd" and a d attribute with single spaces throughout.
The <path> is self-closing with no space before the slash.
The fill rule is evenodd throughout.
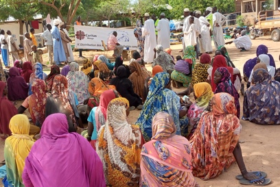
<path id="1" fill-rule="evenodd" d="M 142 36 L 145 36 L 144 62 L 152 63 L 154 61 L 154 48 L 156 47 L 156 32 L 152 19 L 145 21 L 144 27 L 142 27 Z"/>

